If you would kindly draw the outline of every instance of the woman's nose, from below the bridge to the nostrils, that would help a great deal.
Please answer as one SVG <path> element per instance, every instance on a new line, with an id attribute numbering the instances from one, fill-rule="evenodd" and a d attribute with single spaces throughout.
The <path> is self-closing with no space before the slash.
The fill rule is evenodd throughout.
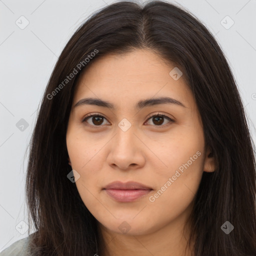
<path id="1" fill-rule="evenodd" d="M 112 168 L 122 170 L 140 168 L 145 163 L 145 148 L 132 126 L 126 131 L 117 127 L 115 135 L 109 141 L 107 163 Z"/>

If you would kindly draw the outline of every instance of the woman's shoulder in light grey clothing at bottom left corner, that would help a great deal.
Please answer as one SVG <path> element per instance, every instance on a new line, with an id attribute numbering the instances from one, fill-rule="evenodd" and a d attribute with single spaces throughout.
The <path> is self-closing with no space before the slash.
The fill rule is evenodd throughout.
<path id="1" fill-rule="evenodd" d="M 26 256 L 29 236 L 13 242 L 0 252 L 0 256 Z"/>

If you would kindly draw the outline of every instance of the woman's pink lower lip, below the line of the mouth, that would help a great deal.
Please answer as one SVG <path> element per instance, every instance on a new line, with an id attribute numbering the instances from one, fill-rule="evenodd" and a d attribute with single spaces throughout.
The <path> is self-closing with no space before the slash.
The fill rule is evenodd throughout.
<path id="1" fill-rule="evenodd" d="M 131 202 L 148 194 L 152 189 L 104 189 L 107 194 L 119 202 Z"/>

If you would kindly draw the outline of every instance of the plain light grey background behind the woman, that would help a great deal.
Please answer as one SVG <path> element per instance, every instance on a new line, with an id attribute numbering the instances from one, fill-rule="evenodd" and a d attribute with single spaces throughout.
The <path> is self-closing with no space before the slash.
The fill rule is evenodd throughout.
<path id="1" fill-rule="evenodd" d="M 256 0 L 169 1 L 195 14 L 219 42 L 238 84 L 255 143 Z M 25 151 L 53 66 L 79 24 L 112 2 L 0 0 L 0 251 L 28 236 Z"/>

